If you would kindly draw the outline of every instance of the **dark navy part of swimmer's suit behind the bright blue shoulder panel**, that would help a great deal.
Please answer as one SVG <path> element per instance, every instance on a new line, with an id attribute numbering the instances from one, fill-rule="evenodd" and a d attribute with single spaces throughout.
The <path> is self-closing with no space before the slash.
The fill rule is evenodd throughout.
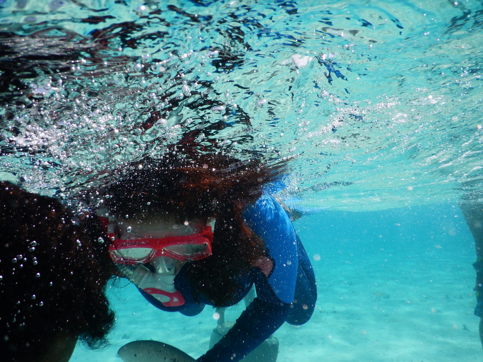
<path id="1" fill-rule="evenodd" d="M 315 275 L 310 259 L 305 251 L 300 238 L 297 236 L 298 270 L 295 285 L 294 303 L 287 322 L 300 325 L 312 317 L 315 302 L 317 301 L 317 287 Z"/>

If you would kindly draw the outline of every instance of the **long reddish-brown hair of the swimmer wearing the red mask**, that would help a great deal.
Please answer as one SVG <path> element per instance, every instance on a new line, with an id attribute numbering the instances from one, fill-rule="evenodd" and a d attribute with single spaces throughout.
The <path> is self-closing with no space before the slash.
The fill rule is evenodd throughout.
<path id="1" fill-rule="evenodd" d="M 129 218 L 166 212 L 180 222 L 215 217 L 213 255 L 188 264 L 186 275 L 195 295 L 203 292 L 215 306 L 225 306 L 239 287 L 237 278 L 266 251 L 242 212 L 283 171 L 284 163 L 269 166 L 221 153 L 144 159 L 122 169 L 104 190 L 101 206 Z"/>

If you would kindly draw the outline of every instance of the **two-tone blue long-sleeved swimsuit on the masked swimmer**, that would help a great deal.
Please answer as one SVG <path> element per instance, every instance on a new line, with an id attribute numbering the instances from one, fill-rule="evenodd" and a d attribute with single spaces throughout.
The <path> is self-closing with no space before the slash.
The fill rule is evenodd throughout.
<path id="1" fill-rule="evenodd" d="M 258 347 L 283 323 L 299 325 L 310 319 L 317 299 L 315 276 L 310 260 L 298 238 L 289 216 L 268 194 L 262 195 L 243 212 L 247 225 L 265 241 L 273 262 L 269 276 L 254 267 L 241 277 L 245 288 L 237 292 L 236 303 L 253 284 L 257 297 L 236 320 L 230 331 L 199 357 L 199 362 L 236 362 Z M 186 316 L 200 313 L 211 302 L 202 294 L 195 302 L 190 284 L 182 268 L 174 279 L 175 288 L 185 299 L 182 306 L 167 307 L 152 295 L 139 291 L 154 306 L 165 311 L 179 311 Z M 235 303 L 235 304 L 236 304 Z"/>

